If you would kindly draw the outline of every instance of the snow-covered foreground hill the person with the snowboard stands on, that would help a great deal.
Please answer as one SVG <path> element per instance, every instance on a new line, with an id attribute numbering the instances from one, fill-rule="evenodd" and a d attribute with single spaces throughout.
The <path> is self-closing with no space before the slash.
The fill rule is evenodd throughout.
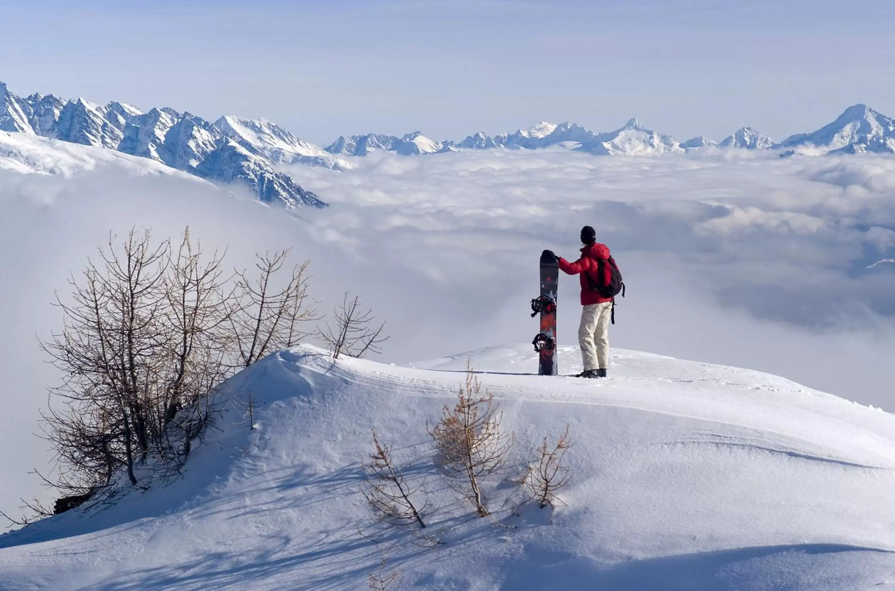
<path id="1" fill-rule="evenodd" d="M 473 516 L 430 460 L 426 422 L 467 359 L 519 457 Z M 559 350 L 564 372 L 577 352 Z M 895 587 L 895 419 L 785 379 L 615 350 L 610 378 L 532 376 L 529 345 L 394 367 L 283 351 L 234 377 L 183 479 L 0 536 L 4 589 L 364 589 L 384 554 L 406 588 Z M 509 498 L 523 458 L 570 425 L 565 506 Z M 370 428 L 429 494 L 426 549 L 359 493 Z"/>

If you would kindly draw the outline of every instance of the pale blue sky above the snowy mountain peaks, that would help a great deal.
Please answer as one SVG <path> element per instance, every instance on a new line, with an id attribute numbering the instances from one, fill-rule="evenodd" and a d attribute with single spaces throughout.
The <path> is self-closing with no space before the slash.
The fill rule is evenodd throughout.
<path id="1" fill-rule="evenodd" d="M 435 139 L 540 120 L 775 139 L 864 102 L 895 115 L 895 2 L 0 0 L 0 80 L 304 139 Z"/>

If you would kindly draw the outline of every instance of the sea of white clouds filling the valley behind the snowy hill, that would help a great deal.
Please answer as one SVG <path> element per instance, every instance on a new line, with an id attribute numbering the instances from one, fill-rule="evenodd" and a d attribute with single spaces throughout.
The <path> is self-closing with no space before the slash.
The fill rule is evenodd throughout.
<path id="1" fill-rule="evenodd" d="M 374 155 L 338 173 L 288 170 L 331 207 L 286 212 L 242 190 L 114 162 L 85 173 L 0 170 L 0 510 L 47 496 L 39 409 L 58 376 L 38 338 L 108 232 L 191 226 L 233 266 L 291 247 L 322 311 L 344 291 L 387 321 L 382 360 L 408 362 L 537 331 L 541 249 L 575 258 L 593 225 L 625 274 L 614 345 L 753 367 L 895 409 L 895 158 L 595 157 L 565 149 Z M 575 278 L 559 340 L 575 342 Z M 563 371 L 560 359 L 560 372 Z M 566 366 L 567 367 L 567 366 Z M 534 371 L 534 367 L 532 370 Z"/>

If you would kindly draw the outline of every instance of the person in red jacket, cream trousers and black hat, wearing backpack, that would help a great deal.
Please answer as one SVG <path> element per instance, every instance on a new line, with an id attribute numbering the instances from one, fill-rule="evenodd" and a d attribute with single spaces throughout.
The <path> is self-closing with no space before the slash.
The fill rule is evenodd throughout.
<path id="1" fill-rule="evenodd" d="M 578 345 L 581 347 L 584 371 L 579 376 L 606 377 L 613 300 L 623 284 L 618 266 L 609 256 L 609 248 L 597 242 L 597 233 L 591 226 L 585 225 L 581 229 L 581 241 L 584 244 L 581 258 L 570 263 L 565 258 L 557 257 L 557 263 L 564 273 L 581 275 L 581 305 L 584 308 L 578 327 Z"/>

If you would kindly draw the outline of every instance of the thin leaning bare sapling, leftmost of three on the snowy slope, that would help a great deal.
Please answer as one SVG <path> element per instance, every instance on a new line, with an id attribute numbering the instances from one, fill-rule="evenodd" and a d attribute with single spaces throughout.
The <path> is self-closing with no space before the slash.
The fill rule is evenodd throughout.
<path id="1" fill-rule="evenodd" d="M 392 519 L 400 523 L 415 522 L 420 528 L 425 528 L 426 524 L 421 516 L 421 512 L 425 511 L 425 505 L 418 510 L 411 499 L 420 491 L 422 485 L 412 488 L 407 484 L 403 472 L 396 468 L 391 458 L 391 448 L 379 443 L 375 429 L 373 429 L 373 447 L 375 451 L 370 454 L 370 460 L 362 462 L 367 477 L 366 488 L 363 490 L 367 502 L 383 519 Z"/>

